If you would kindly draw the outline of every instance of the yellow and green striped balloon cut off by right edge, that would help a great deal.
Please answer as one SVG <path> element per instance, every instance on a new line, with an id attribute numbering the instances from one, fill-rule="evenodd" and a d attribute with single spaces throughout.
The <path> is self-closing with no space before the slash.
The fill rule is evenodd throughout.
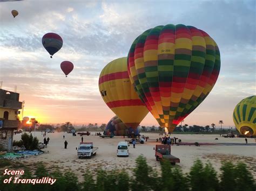
<path id="1" fill-rule="evenodd" d="M 241 135 L 256 136 L 256 96 L 246 97 L 235 106 L 233 121 Z"/>

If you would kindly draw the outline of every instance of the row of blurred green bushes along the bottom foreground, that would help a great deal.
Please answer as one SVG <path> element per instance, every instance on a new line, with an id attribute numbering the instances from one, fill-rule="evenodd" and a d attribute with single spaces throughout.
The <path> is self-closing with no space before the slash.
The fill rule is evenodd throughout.
<path id="1" fill-rule="evenodd" d="M 205 165 L 200 160 L 194 161 L 188 174 L 184 174 L 180 167 L 173 167 L 169 161 L 161 162 L 161 170 L 156 172 L 147 165 L 146 158 L 140 155 L 136 159 L 136 167 L 133 169 L 133 176 L 129 176 L 124 170 L 105 171 L 99 169 L 96 177 L 88 169 L 83 175 L 83 182 L 78 182 L 78 176 L 68 171 L 60 172 L 59 169 L 46 169 L 39 162 L 36 165 L 35 172 L 32 173 L 28 168 L 23 168 L 25 174 L 22 178 L 56 178 L 53 185 L 47 184 L 4 184 L 3 180 L 9 178 L 6 175 L 0 175 L 0 188 L 4 190 L 83 190 L 83 191 L 128 191 L 128 190 L 234 190 L 234 191 L 252 191 L 255 190 L 255 180 L 244 163 L 237 165 L 230 161 L 223 162 L 220 170 L 220 176 L 214 168 L 207 162 Z"/>

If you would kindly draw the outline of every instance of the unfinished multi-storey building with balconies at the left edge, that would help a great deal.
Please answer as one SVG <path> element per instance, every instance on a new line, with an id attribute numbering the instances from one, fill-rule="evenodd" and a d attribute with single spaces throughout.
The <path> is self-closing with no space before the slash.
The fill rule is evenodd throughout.
<path id="1" fill-rule="evenodd" d="M 22 109 L 19 94 L 0 89 L 0 147 L 7 151 L 11 151 L 14 130 L 20 124 L 19 109 Z"/>

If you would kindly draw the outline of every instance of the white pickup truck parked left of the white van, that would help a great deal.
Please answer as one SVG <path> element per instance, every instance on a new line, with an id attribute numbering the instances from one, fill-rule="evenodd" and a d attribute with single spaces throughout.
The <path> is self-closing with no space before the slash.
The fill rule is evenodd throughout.
<path id="1" fill-rule="evenodd" d="M 96 151 L 98 147 L 93 147 L 93 143 L 80 143 L 77 150 L 78 158 L 81 157 L 89 157 L 91 158 L 92 155 L 96 155 Z"/>

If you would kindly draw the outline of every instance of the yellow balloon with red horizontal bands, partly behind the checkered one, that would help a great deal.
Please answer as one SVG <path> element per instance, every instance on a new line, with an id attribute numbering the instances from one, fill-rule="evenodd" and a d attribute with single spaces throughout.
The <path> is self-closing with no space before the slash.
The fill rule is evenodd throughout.
<path id="1" fill-rule="evenodd" d="M 126 63 L 126 57 L 119 58 L 103 68 L 99 76 L 99 91 L 114 114 L 135 131 L 149 111 L 132 87 Z"/>

